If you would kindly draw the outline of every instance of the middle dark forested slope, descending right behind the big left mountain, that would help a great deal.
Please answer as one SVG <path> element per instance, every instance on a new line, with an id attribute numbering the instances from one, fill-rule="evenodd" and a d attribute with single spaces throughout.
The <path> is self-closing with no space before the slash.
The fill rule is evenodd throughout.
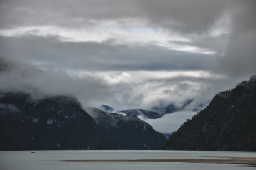
<path id="1" fill-rule="evenodd" d="M 96 121 L 100 132 L 114 139 L 122 149 L 161 149 L 165 136 L 134 114 L 123 116 L 97 108 L 85 108 Z"/>

